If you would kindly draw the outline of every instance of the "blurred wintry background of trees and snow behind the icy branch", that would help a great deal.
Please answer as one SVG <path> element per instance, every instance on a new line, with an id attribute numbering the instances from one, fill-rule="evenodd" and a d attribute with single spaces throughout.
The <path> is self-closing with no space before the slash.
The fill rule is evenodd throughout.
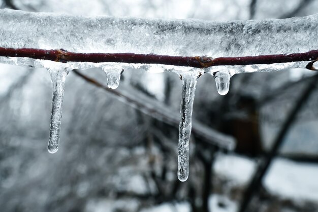
<path id="1" fill-rule="evenodd" d="M 222 21 L 318 11 L 316 0 L 0 0 L 0 6 Z M 181 183 L 177 75 L 123 73 L 116 91 L 137 96 L 141 105 L 156 105 L 161 115 L 153 115 L 83 78 L 106 85 L 102 70 L 71 72 L 60 148 L 52 155 L 49 73 L 4 64 L 0 69 L 0 211 L 318 211 L 318 89 L 310 70 L 235 75 L 226 96 L 217 93 L 213 77 L 202 76 L 190 174 Z M 163 121 L 165 116 L 176 121 Z M 236 149 L 215 143 L 211 134 L 233 137 Z"/>

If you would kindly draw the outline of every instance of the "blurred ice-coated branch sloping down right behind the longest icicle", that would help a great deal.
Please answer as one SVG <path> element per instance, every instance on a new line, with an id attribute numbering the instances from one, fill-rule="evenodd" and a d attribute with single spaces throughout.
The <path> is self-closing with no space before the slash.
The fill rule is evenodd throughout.
<path id="1" fill-rule="evenodd" d="M 137 92 L 133 88 L 130 88 L 129 92 L 124 92 L 124 90 L 119 91 L 118 89 L 113 90 L 103 85 L 102 83 L 81 74 L 76 69 L 74 69 L 73 72 L 85 81 L 108 91 L 109 93 L 115 95 L 117 98 L 119 97 L 119 100 L 130 104 L 135 109 L 138 109 L 141 112 L 155 119 L 159 119 L 169 125 L 175 127 L 179 125 L 179 115 L 170 110 L 167 105 L 164 105 L 154 99 L 150 99 L 149 97 L 142 95 L 140 92 Z M 202 140 L 208 145 L 227 150 L 233 149 L 235 147 L 235 140 L 233 137 L 217 132 L 216 130 L 207 127 L 196 120 L 193 120 L 192 132 L 196 136 L 202 138 Z"/>

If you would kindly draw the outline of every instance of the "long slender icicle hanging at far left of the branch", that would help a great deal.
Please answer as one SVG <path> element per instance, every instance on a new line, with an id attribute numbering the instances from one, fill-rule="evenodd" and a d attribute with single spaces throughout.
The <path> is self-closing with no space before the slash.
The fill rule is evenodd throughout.
<path id="1" fill-rule="evenodd" d="M 59 131 L 62 118 L 62 102 L 64 96 L 65 80 L 69 74 L 67 69 L 49 69 L 53 86 L 52 113 L 50 125 L 50 138 L 48 151 L 56 153 L 59 145 Z"/>

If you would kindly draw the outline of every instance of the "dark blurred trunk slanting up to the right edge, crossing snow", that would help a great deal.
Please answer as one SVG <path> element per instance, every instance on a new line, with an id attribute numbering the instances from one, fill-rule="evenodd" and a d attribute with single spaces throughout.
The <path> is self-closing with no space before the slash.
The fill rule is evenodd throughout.
<path id="1" fill-rule="evenodd" d="M 316 82 L 318 81 L 318 75 L 315 75 L 315 77 L 312 79 L 312 81 L 308 84 L 306 89 L 300 94 L 299 99 L 296 101 L 294 108 L 292 108 L 291 112 L 287 116 L 287 119 L 283 123 L 276 139 L 274 140 L 273 146 L 268 154 L 266 154 L 264 160 L 262 163 L 259 164 L 255 175 L 252 178 L 251 183 L 247 187 L 243 201 L 240 206 L 240 212 L 244 212 L 247 209 L 247 206 L 252 199 L 253 195 L 258 192 L 260 185 L 262 183 L 262 180 L 264 178 L 265 173 L 267 172 L 272 160 L 277 155 L 278 150 L 283 142 L 283 138 L 288 133 L 290 127 L 294 123 L 296 116 L 298 112 L 301 111 L 304 103 L 309 98 L 310 94 L 314 90 L 314 87 L 316 85 Z"/>

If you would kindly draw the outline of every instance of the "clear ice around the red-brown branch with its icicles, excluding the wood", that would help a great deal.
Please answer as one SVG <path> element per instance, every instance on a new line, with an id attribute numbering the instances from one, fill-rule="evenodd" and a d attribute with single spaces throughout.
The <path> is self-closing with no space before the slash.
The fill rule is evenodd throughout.
<path id="1" fill-rule="evenodd" d="M 80 17 L 5 9 L 0 10 L 0 47 L 65 49 L 85 53 L 206 55 L 212 58 L 290 54 L 318 49 L 317 26 L 318 15 L 292 19 L 215 22 L 106 16 Z M 0 57 L 0 62 L 22 66 L 46 66 L 44 61 L 38 62 L 28 58 Z M 233 73 L 237 74 L 305 67 L 306 64 L 307 62 L 290 62 L 231 67 Z M 100 67 L 86 62 L 74 62 L 72 65 L 76 68 Z M 118 73 L 122 69 L 106 68 L 106 66 L 103 69 L 106 70 L 107 83 L 110 88 L 115 88 L 119 83 L 120 74 Z M 160 68 L 146 64 L 137 66 L 151 72 L 158 72 L 158 69 L 171 71 L 175 68 L 168 65 L 161 65 Z M 67 70 L 57 68 L 56 65 L 49 69 L 53 84 L 53 101 L 48 149 L 50 153 L 54 153 L 57 151 L 59 142 L 62 97 Z M 219 93 L 227 93 L 229 75 L 220 70 L 214 70 L 214 67 L 211 69 L 213 69 L 211 73 L 218 72 L 215 74 L 215 80 Z M 193 74 L 194 72 L 190 69 L 185 69 L 181 73 L 183 90 L 178 157 L 180 181 L 185 181 L 188 177 L 188 140 L 196 87 L 196 80 L 194 80 L 196 77 Z"/>

